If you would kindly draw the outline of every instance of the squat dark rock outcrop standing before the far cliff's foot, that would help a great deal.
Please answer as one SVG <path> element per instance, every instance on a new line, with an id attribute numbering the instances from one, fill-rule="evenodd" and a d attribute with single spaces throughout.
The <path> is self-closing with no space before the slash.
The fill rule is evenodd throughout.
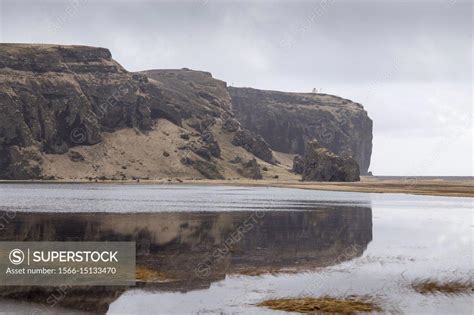
<path id="1" fill-rule="evenodd" d="M 316 140 L 306 144 L 301 160 L 295 159 L 293 169 L 303 169 L 304 181 L 354 182 L 359 181 L 359 165 L 352 158 L 339 157 L 322 147 Z"/>

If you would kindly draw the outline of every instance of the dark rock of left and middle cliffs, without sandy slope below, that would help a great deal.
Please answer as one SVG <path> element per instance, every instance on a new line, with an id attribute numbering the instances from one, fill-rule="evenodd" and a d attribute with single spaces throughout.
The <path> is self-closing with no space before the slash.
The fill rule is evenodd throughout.
<path id="1" fill-rule="evenodd" d="M 215 164 L 214 126 L 243 129 L 226 83 L 210 73 L 130 73 L 107 49 L 85 46 L 0 44 L 0 113 L 0 178 L 7 179 L 42 178 L 43 154 L 100 143 L 104 131 L 146 133 L 157 119 L 196 130 L 193 152 Z M 192 167 L 208 174 L 203 163 Z"/>

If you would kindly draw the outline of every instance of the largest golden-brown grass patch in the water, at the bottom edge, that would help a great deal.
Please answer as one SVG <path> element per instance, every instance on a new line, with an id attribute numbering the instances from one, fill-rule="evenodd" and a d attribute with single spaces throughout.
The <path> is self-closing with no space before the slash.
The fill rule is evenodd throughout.
<path id="1" fill-rule="evenodd" d="M 288 299 L 273 299 L 263 301 L 257 306 L 267 307 L 278 311 L 297 313 L 335 313 L 356 314 L 363 312 L 380 312 L 382 309 L 375 303 L 361 297 L 301 297 Z"/>

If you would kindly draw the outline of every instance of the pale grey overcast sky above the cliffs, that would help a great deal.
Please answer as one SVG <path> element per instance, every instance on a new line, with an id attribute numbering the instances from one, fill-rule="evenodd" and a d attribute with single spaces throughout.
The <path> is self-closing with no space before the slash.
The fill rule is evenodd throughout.
<path id="1" fill-rule="evenodd" d="M 0 0 L 0 41 L 106 47 L 129 71 L 316 88 L 368 111 L 375 175 L 473 176 L 472 15 L 470 0 Z"/>

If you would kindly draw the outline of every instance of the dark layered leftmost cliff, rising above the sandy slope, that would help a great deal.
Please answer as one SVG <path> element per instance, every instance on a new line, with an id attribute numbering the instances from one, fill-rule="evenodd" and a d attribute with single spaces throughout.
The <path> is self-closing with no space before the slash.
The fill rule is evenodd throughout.
<path id="1" fill-rule="evenodd" d="M 107 49 L 1 44 L 0 177 L 19 178 L 12 146 L 62 154 L 100 142 L 102 131 L 149 129 L 153 104 L 144 84 Z M 41 168 L 25 172 L 41 176 Z"/>

